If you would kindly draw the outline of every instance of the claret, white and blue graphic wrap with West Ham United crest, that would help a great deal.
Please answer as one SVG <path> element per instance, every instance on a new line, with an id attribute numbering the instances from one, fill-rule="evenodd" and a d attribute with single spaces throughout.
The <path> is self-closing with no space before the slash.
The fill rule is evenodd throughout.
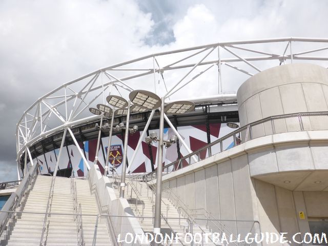
<path id="1" fill-rule="evenodd" d="M 186 142 L 187 146 L 192 150 L 196 151 L 203 146 L 208 144 L 207 130 L 206 125 L 192 125 L 185 127 L 177 128 L 181 138 Z M 232 132 L 234 129 L 227 127 L 226 124 L 210 124 L 210 138 L 211 142 L 217 140 L 218 138 L 227 135 Z M 158 130 L 151 130 L 157 132 Z M 174 131 L 171 128 L 164 129 L 164 139 L 170 139 L 172 135 L 175 135 Z M 130 168 L 130 172 L 132 173 L 141 173 L 141 172 L 151 172 L 152 165 L 153 168 L 157 168 L 157 147 L 158 143 L 153 142 L 151 146 L 147 145 L 145 141 L 141 142 L 140 148 L 137 150 L 136 157 L 133 163 L 130 163 L 131 157 L 133 153 L 136 151 L 137 143 L 139 140 L 142 131 L 136 132 L 134 134 L 129 135 L 128 141 L 128 165 L 132 165 Z M 124 138 L 123 138 L 124 139 Z M 115 167 L 116 172 L 121 172 L 121 163 L 123 159 L 124 152 L 124 142 L 122 140 L 122 136 L 120 134 L 112 137 L 112 145 L 109 154 L 109 167 Z M 99 167 L 100 172 L 104 172 L 105 169 L 105 160 L 106 154 L 108 150 L 108 137 L 103 137 L 101 139 L 101 144 L 98 152 L 98 161 L 97 165 Z M 93 165 L 96 155 L 96 146 L 97 139 L 79 142 L 79 148 L 85 154 L 86 159 L 89 162 L 89 165 Z M 180 150 L 180 156 L 183 157 L 188 155 L 188 151 L 179 141 L 179 148 L 177 144 L 173 144 L 169 148 L 163 149 L 163 164 L 168 165 L 169 163 L 178 159 L 178 149 Z M 233 141 L 227 141 L 223 144 L 223 149 L 229 149 L 233 147 Z M 58 158 L 59 149 L 50 151 L 45 153 L 45 155 L 39 155 L 37 158 L 33 159 L 33 162 L 38 162 L 40 165 L 41 172 L 52 172 L 56 165 L 56 161 Z M 203 159 L 208 156 L 207 151 L 202 151 L 200 153 L 200 158 Z M 151 160 L 152 157 L 152 160 Z M 183 163 L 183 166 L 188 165 L 188 163 Z M 30 166 L 30 164 L 28 165 Z M 70 145 L 67 148 L 63 149 L 63 154 L 61 156 L 61 161 L 59 163 L 59 170 L 73 168 L 75 176 L 86 176 L 87 175 L 87 167 L 83 158 L 80 156 L 79 151 L 75 145 Z"/>

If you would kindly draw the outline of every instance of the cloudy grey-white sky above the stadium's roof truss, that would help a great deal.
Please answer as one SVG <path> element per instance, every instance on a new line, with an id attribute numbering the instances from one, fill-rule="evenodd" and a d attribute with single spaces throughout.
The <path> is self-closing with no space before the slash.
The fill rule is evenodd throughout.
<path id="1" fill-rule="evenodd" d="M 0 181 L 16 179 L 15 127 L 38 97 L 160 50 L 328 37 L 326 0 L 1 0 Z"/>

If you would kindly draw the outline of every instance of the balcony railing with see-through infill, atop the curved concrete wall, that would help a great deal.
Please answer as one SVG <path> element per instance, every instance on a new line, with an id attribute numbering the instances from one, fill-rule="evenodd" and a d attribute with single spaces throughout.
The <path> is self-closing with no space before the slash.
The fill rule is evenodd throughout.
<path id="1" fill-rule="evenodd" d="M 258 137 L 283 132 L 310 130 L 328 130 L 328 111 L 284 114 L 257 120 L 164 166 L 163 175 Z M 155 179 L 156 172 L 157 170 L 146 174 L 147 178 L 145 177 L 144 180 Z"/>

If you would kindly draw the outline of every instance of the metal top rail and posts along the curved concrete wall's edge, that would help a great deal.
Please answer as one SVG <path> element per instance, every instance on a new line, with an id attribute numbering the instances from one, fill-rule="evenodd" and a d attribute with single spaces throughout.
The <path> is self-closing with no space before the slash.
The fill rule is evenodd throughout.
<path id="1" fill-rule="evenodd" d="M 223 136 L 217 140 L 215 140 L 214 142 L 211 142 L 211 144 L 208 144 L 186 156 L 183 156 L 182 158 L 176 160 L 176 161 L 173 161 L 171 163 L 169 163 L 168 165 L 164 166 L 163 167 L 163 172 L 165 169 L 167 169 L 167 173 L 169 172 L 169 168 L 171 166 L 174 166 L 173 167 L 173 170 L 172 171 L 176 171 L 177 169 L 180 168 L 181 166 L 181 163 L 183 160 L 186 160 L 186 159 L 191 159 L 192 156 L 197 156 L 198 157 L 198 161 L 201 160 L 200 158 L 200 152 L 202 151 L 207 151 L 207 150 L 211 150 L 211 147 L 217 145 L 217 144 L 220 144 L 220 152 L 218 153 L 221 153 L 223 151 L 223 148 L 222 148 L 222 142 L 230 137 L 233 137 L 234 138 L 234 142 L 235 142 L 235 145 L 237 144 L 241 144 L 242 142 L 246 142 L 248 140 L 251 140 L 251 139 L 254 139 L 252 137 L 252 127 L 254 126 L 257 126 L 257 125 L 260 125 L 260 124 L 263 124 L 265 122 L 269 122 L 271 121 L 272 123 L 272 126 L 273 126 L 273 134 L 275 133 L 275 126 L 273 124 L 273 120 L 275 119 L 286 119 L 286 118 L 292 118 L 292 117 L 297 117 L 298 118 L 298 123 L 299 123 L 299 127 L 300 127 L 300 131 L 304 131 L 304 125 L 303 125 L 303 120 L 302 120 L 302 117 L 306 117 L 306 116 L 328 116 L 328 111 L 320 111 L 320 112 L 303 112 L 303 113 L 293 113 L 293 114 L 283 114 L 283 115 L 276 115 L 276 116 L 269 116 L 269 117 L 266 117 L 266 118 L 263 118 L 263 119 L 260 119 L 260 120 L 257 120 L 257 121 L 254 121 L 252 122 L 251 124 L 248 124 L 248 125 L 245 125 L 229 134 L 227 134 L 226 136 Z M 328 128 L 327 128 L 328 129 Z M 243 131 L 247 131 L 247 134 L 245 136 L 245 139 L 240 139 L 240 142 L 238 143 L 236 141 L 236 135 L 237 134 L 240 134 L 241 132 Z M 250 137 L 249 137 L 250 136 Z M 211 153 L 211 151 L 208 151 L 209 155 L 212 156 L 213 154 Z M 209 156 L 209 157 L 210 157 Z M 189 165 L 191 165 L 191 161 L 188 162 Z M 177 168 L 175 168 L 175 166 L 177 166 Z M 155 178 L 157 170 L 155 171 L 152 171 L 148 174 L 146 174 L 145 176 L 147 177 L 151 177 L 151 180 Z M 144 176 L 144 177 L 145 177 Z"/>

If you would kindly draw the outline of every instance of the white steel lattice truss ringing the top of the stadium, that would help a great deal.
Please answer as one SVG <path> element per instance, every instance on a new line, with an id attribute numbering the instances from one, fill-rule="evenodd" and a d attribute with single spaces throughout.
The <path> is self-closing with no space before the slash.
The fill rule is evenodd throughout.
<path id="1" fill-rule="evenodd" d="M 317 56 L 319 51 L 320 56 Z M 195 87 L 197 83 L 204 84 L 206 77 L 206 87 L 215 89 L 212 90 L 215 92 L 214 95 L 203 96 L 202 100 L 224 99 L 222 85 L 226 87 L 228 83 L 233 83 L 232 79 L 241 80 L 241 83 L 270 67 L 295 60 L 311 61 L 327 67 L 326 51 L 328 39 L 323 38 L 288 37 L 224 42 L 147 55 L 69 81 L 38 98 L 19 119 L 16 128 L 18 177 L 20 157 L 25 153 L 25 159 L 29 156 L 32 160 L 29 148 L 37 141 L 64 130 L 65 134 L 67 131 L 70 133 L 77 145 L 71 128 L 99 118 L 91 116 L 88 109 L 98 103 L 106 104 L 108 94 L 119 93 L 127 98 L 133 90 L 146 89 L 172 100 L 171 97 L 186 97 L 185 89 Z M 188 97 L 200 98 L 197 89 L 190 94 L 192 91 L 189 90 Z M 235 94 L 229 96 L 234 97 Z"/>

